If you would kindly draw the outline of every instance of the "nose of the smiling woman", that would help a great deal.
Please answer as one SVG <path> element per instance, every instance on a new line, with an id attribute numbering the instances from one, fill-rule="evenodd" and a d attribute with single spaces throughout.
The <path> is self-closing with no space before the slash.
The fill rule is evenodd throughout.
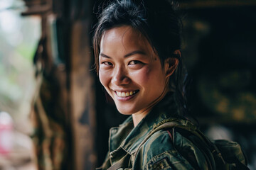
<path id="1" fill-rule="evenodd" d="M 112 77 L 112 84 L 115 84 L 117 86 L 125 85 L 125 84 L 129 84 L 130 80 L 131 79 L 127 77 L 127 73 L 125 72 L 125 70 L 122 69 L 121 67 L 116 68 L 114 70 L 114 75 Z"/>

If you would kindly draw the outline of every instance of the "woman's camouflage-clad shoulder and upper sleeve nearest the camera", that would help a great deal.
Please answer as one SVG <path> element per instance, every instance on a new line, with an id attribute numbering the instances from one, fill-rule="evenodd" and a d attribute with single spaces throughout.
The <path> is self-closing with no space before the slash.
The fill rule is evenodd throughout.
<path id="1" fill-rule="evenodd" d="M 140 164 L 144 169 L 191 169 L 191 164 L 175 148 L 172 135 L 169 130 L 154 132 L 140 147 L 135 165 Z M 186 137 L 178 132 L 175 137 L 180 142 L 187 142 Z"/>

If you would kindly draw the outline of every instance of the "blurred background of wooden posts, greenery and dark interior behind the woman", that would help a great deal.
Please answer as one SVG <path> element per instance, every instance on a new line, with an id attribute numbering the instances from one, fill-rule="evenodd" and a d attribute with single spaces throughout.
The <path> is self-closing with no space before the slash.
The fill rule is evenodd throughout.
<path id="1" fill-rule="evenodd" d="M 0 0 L 0 169 L 95 169 L 127 117 L 93 69 L 102 1 Z M 157 1 L 156 1 L 157 3 Z M 256 1 L 180 1 L 188 109 L 256 169 Z"/>

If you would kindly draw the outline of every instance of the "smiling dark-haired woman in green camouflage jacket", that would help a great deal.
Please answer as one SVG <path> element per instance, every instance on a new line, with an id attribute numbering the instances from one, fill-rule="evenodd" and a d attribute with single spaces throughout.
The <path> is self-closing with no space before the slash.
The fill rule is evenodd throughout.
<path id="1" fill-rule="evenodd" d="M 118 0 L 102 11 L 93 38 L 97 72 L 117 110 L 131 116 L 110 130 L 100 169 L 215 168 L 209 165 L 213 156 L 196 146 L 197 138 L 159 128 L 172 120 L 192 125 L 182 116 L 180 31 L 168 1 Z"/>

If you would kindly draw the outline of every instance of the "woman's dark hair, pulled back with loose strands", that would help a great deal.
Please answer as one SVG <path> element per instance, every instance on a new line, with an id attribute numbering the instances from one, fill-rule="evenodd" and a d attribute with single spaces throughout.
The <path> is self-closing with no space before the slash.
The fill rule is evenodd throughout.
<path id="1" fill-rule="evenodd" d="M 178 67 L 169 80 L 170 89 L 175 91 L 176 102 L 183 113 L 186 108 L 183 93 L 183 64 L 181 57 L 174 51 L 181 49 L 181 18 L 178 16 L 175 3 L 167 0 L 114 0 L 99 16 L 93 36 L 95 66 L 99 69 L 100 40 L 106 30 L 119 26 L 132 26 L 139 30 L 149 41 L 154 52 L 159 56 L 161 64 L 169 57 L 179 60 Z"/>

